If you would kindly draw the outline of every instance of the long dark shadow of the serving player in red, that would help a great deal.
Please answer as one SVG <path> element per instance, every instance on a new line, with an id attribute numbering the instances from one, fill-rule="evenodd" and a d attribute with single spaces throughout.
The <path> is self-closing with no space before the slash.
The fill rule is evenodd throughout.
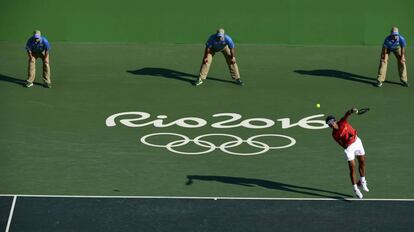
<path id="1" fill-rule="evenodd" d="M 297 185 L 292 185 L 292 184 L 285 184 L 281 182 L 254 179 L 254 178 L 188 175 L 186 185 L 192 185 L 194 181 L 216 181 L 216 182 L 222 182 L 225 184 L 241 185 L 245 187 L 259 186 L 259 187 L 268 188 L 268 189 L 301 193 L 301 194 L 314 196 L 314 197 L 332 198 L 332 199 L 339 199 L 339 200 L 346 200 L 345 197 L 353 197 L 348 194 L 338 193 L 338 192 L 324 190 L 324 189 L 297 186 Z"/>

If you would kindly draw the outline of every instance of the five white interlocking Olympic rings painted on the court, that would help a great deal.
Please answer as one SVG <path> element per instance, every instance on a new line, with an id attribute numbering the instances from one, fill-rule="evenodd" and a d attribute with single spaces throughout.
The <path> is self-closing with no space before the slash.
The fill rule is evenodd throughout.
<path id="1" fill-rule="evenodd" d="M 163 136 L 163 135 L 171 135 L 171 136 L 176 136 L 179 139 L 169 142 L 167 144 L 154 144 L 154 143 L 149 143 L 147 140 L 151 137 L 155 137 L 155 136 Z M 206 138 L 208 137 L 228 137 L 228 138 L 232 138 L 234 140 L 232 141 L 228 141 L 228 142 L 224 142 L 220 145 L 216 145 L 211 141 L 206 140 Z M 263 137 L 277 137 L 277 138 L 283 138 L 288 140 L 288 143 L 286 145 L 283 146 L 269 146 L 267 143 L 258 141 L 256 139 L 259 138 L 263 138 Z M 262 134 L 262 135 L 255 135 L 252 136 L 246 140 L 243 140 L 242 138 L 240 138 L 239 136 L 236 135 L 231 135 L 231 134 L 221 134 L 221 133 L 215 133 L 215 134 L 204 134 L 204 135 L 200 135 L 197 136 L 194 139 L 190 139 L 189 137 L 182 135 L 182 134 L 177 134 L 177 133 L 153 133 L 153 134 L 148 134 L 145 135 L 141 138 L 141 143 L 151 146 L 151 147 L 161 147 L 161 148 L 166 148 L 167 150 L 169 150 L 170 152 L 176 153 L 176 154 L 182 154 L 182 155 L 202 155 L 202 154 L 207 154 L 209 152 L 212 152 L 214 150 L 220 149 L 222 152 L 230 154 L 230 155 L 241 155 L 241 156 L 252 156 L 252 155 L 260 155 L 263 154 L 269 150 L 273 150 L 273 149 L 283 149 L 283 148 L 288 148 L 291 147 L 293 145 L 296 144 L 296 140 L 292 137 L 286 136 L 286 135 L 280 135 L 280 134 Z M 187 151 L 179 151 L 177 150 L 177 147 L 181 147 L 181 146 L 185 146 L 187 144 L 189 144 L 190 142 L 196 144 L 197 146 L 200 146 L 202 148 L 205 148 L 204 151 L 199 151 L 199 152 L 187 152 Z M 237 147 L 243 143 L 247 143 L 248 145 L 250 145 L 251 147 L 255 147 L 255 148 L 259 148 L 261 149 L 258 152 L 249 152 L 249 153 L 239 153 L 239 152 L 234 152 L 231 151 L 231 148 Z"/>

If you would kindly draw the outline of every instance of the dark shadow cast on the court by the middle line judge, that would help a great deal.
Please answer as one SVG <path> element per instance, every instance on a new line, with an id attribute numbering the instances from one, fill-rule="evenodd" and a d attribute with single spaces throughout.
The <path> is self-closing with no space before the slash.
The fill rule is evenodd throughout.
<path id="1" fill-rule="evenodd" d="M 198 79 L 198 76 L 190 73 L 180 72 L 168 68 L 141 68 L 137 70 L 128 70 L 128 73 L 138 75 L 138 76 L 153 76 L 153 77 L 163 77 L 169 79 L 175 79 L 179 81 L 184 81 L 190 84 L 194 84 L 195 81 Z M 226 83 L 235 83 L 230 80 L 222 80 L 214 77 L 207 77 L 207 80 L 210 81 L 219 81 L 219 82 L 226 82 Z"/>

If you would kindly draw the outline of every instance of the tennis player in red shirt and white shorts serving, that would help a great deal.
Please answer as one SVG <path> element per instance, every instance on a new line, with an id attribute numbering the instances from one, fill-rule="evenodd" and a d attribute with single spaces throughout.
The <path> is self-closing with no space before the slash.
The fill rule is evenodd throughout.
<path id="1" fill-rule="evenodd" d="M 357 113 L 358 109 L 352 108 L 339 121 L 336 121 L 334 116 L 328 116 L 326 117 L 326 124 L 332 128 L 333 139 L 344 148 L 355 195 L 359 199 L 362 199 L 363 195 L 357 185 L 362 186 L 365 192 L 369 192 L 365 179 L 365 151 L 361 139 L 357 136 L 357 131 L 348 123 L 348 117 L 351 114 Z M 361 177 L 358 183 L 355 170 L 355 157 L 358 159 L 358 170 Z"/>

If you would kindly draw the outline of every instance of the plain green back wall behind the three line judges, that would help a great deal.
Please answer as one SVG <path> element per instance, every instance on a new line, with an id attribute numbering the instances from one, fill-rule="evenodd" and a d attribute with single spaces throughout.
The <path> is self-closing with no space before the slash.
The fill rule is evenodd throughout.
<path id="1" fill-rule="evenodd" d="M 35 28 L 51 41 L 377 45 L 393 25 L 414 38 L 413 0 L 0 0 L 0 41 Z"/>

